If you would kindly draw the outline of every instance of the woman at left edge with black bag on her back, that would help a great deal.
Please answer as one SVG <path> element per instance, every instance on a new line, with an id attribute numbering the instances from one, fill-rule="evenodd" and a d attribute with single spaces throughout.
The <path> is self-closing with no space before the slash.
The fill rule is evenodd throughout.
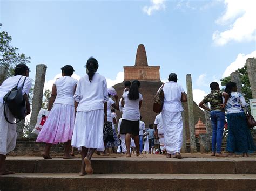
<path id="1" fill-rule="evenodd" d="M 23 86 L 24 83 L 24 86 Z M 16 124 L 10 124 L 4 117 L 4 96 L 15 86 L 22 88 L 22 95 L 26 102 L 26 115 L 30 114 L 29 104 L 29 91 L 31 89 L 32 80 L 29 78 L 29 68 L 24 64 L 19 64 L 15 68 L 15 75 L 6 79 L 0 86 L 0 175 L 13 174 L 14 172 L 8 171 L 5 167 L 6 154 L 14 150 L 16 146 Z M 11 114 L 8 106 L 6 105 L 6 117 L 9 122 L 15 123 L 15 118 Z"/>

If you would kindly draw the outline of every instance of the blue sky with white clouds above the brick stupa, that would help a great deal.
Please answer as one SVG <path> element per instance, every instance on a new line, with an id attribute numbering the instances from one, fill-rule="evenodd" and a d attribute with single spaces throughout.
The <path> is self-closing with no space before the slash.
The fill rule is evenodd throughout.
<path id="1" fill-rule="evenodd" d="M 123 66 L 134 66 L 137 47 L 144 44 L 148 63 L 160 65 L 163 82 L 177 73 L 186 90 L 186 74 L 192 75 L 198 103 L 212 81 L 256 57 L 255 7 L 254 0 L 0 0 L 0 30 L 31 56 L 30 77 L 35 79 L 37 64 L 48 67 L 45 89 L 68 64 L 79 79 L 90 56 L 109 87 L 123 82 Z"/>

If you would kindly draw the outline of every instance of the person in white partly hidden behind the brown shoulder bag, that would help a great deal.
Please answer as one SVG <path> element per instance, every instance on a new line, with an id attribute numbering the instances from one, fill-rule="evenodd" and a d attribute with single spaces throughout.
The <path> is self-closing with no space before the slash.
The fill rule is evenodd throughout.
<path id="1" fill-rule="evenodd" d="M 159 137 L 159 145 L 160 145 L 161 152 L 165 152 L 164 125 L 163 125 L 162 113 L 156 116 L 156 119 L 154 120 L 154 128 L 157 129 L 156 134 Z"/>

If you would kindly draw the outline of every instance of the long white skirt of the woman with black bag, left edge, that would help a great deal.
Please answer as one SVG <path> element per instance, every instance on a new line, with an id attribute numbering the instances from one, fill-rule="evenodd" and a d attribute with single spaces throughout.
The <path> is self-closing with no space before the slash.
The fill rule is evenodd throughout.
<path id="1" fill-rule="evenodd" d="M 6 107 L 6 116 L 10 122 L 15 122 L 15 118 L 8 107 Z M 16 139 L 16 124 L 6 122 L 4 117 L 4 104 L 0 103 L 0 154 L 6 155 L 13 151 L 16 146 Z"/>

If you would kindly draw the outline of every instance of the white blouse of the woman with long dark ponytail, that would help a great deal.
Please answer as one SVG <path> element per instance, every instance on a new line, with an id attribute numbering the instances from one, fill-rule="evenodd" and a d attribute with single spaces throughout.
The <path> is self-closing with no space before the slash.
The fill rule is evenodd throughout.
<path id="1" fill-rule="evenodd" d="M 76 102 L 79 102 L 77 111 L 88 112 L 104 109 L 104 103 L 109 100 L 105 77 L 95 73 L 90 82 L 86 74 L 78 81 L 74 98 Z"/>

